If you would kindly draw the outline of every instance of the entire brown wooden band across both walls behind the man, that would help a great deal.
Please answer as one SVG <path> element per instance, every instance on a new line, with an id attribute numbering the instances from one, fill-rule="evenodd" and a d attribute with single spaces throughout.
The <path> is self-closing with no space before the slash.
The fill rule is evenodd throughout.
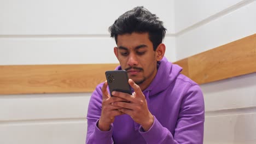
<path id="1" fill-rule="evenodd" d="M 256 34 L 174 63 L 199 84 L 255 73 Z M 117 65 L 0 65 L 0 94 L 92 92 Z"/>

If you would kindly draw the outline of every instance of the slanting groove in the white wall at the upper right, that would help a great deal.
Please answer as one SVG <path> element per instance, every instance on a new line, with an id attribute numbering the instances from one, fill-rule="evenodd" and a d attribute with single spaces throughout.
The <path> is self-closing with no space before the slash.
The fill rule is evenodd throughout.
<path id="1" fill-rule="evenodd" d="M 239 2 L 239 3 L 237 3 L 237 4 L 235 4 L 235 5 L 232 5 L 232 6 L 229 7 L 229 8 L 226 8 L 226 9 L 220 11 L 219 13 L 216 13 L 216 14 L 214 14 L 214 15 L 212 15 L 212 16 L 207 17 L 206 19 L 204 19 L 204 20 L 202 20 L 202 21 L 199 21 L 199 22 L 195 23 L 194 25 L 191 25 L 191 26 L 189 26 L 189 27 L 187 27 L 187 28 L 182 29 L 182 30 L 179 31 L 179 32 L 176 32 L 174 35 L 175 35 L 175 36 L 178 36 L 178 35 L 182 35 L 182 34 L 184 34 L 184 33 L 187 33 L 187 32 L 189 32 L 189 31 L 191 31 L 191 30 L 193 30 L 193 29 L 196 29 L 196 28 L 198 28 L 198 27 L 200 27 L 200 26 L 205 25 L 206 23 L 209 23 L 209 22 L 211 22 L 211 21 L 214 21 L 214 20 L 218 19 L 219 17 L 222 17 L 222 16 L 224 16 L 224 15 L 226 15 L 226 14 L 229 14 L 229 13 L 231 13 L 232 11 L 235 11 L 235 10 L 237 10 L 237 9 L 240 9 L 240 8 L 242 8 L 242 7 L 245 7 L 246 5 L 248 5 L 248 4 L 250 4 L 250 3 L 253 3 L 253 2 L 255 2 L 255 1 L 256 1 L 256 0 L 245 0 L 245 1 L 241 1 L 241 2 Z"/>

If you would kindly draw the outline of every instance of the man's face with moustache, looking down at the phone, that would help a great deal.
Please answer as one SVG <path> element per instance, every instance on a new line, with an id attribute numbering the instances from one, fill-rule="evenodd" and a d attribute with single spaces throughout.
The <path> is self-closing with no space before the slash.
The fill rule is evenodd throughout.
<path id="1" fill-rule="evenodd" d="M 118 35 L 114 48 L 121 68 L 137 85 L 148 87 L 156 75 L 156 55 L 148 33 Z"/>

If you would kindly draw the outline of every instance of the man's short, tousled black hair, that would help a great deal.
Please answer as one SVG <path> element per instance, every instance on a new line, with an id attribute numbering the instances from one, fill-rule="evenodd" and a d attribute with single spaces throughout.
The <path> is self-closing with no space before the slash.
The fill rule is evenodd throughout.
<path id="1" fill-rule="evenodd" d="M 136 7 L 127 11 L 115 20 L 114 24 L 108 28 L 110 37 L 115 38 L 117 43 L 118 35 L 137 33 L 148 33 L 149 40 L 153 43 L 154 51 L 162 39 L 165 37 L 166 28 L 159 17 L 150 13 L 144 7 Z"/>

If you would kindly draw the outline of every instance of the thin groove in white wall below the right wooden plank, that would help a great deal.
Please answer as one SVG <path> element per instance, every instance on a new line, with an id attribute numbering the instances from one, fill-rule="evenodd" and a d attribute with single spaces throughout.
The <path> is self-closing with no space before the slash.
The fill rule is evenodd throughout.
<path id="1" fill-rule="evenodd" d="M 256 113 L 256 106 L 239 107 L 235 109 L 223 109 L 216 111 L 206 111 L 206 117 L 229 116 L 229 115 L 242 115 L 247 113 Z"/>

